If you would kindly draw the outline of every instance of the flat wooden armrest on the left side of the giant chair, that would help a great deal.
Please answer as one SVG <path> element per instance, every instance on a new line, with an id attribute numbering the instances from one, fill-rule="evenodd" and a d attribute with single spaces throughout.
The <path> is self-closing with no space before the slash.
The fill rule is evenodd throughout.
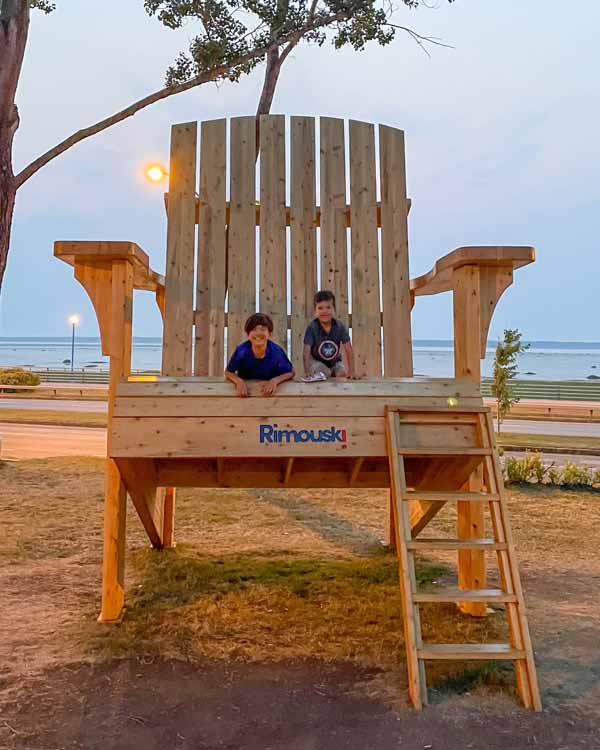
<path id="1" fill-rule="evenodd" d="M 133 265 L 134 289 L 156 292 L 165 285 L 164 276 L 150 268 L 150 259 L 135 242 L 59 241 L 54 243 L 54 256 L 73 267 L 110 268 L 113 261 L 126 260 Z"/>

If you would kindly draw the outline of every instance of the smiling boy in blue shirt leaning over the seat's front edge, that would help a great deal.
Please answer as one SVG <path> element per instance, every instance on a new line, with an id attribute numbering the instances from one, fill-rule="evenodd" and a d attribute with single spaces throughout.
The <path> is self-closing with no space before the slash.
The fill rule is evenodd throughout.
<path id="1" fill-rule="evenodd" d="M 238 396 L 248 396 L 246 380 L 264 380 L 260 392 L 272 396 L 277 386 L 294 377 L 294 368 L 285 351 L 274 341 L 273 321 L 268 315 L 255 313 L 244 326 L 248 340 L 231 355 L 225 378 L 233 383 Z"/>

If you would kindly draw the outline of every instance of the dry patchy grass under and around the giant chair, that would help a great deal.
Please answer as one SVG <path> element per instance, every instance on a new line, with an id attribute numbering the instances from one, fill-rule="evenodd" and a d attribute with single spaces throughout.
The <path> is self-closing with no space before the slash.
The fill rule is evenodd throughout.
<path id="1" fill-rule="evenodd" d="M 180 491 L 182 543 L 162 553 L 130 512 L 128 606 L 114 627 L 95 623 L 102 496 L 100 460 L 0 464 L 0 663 L 159 654 L 404 671 L 396 561 L 382 544 L 386 493 Z M 510 504 L 526 569 L 544 560 L 564 572 L 589 560 L 578 540 L 598 534 L 597 494 L 528 488 L 511 491 Z M 448 509 L 436 531 L 452 535 L 454 524 Z M 453 580 L 453 554 L 421 558 L 418 575 L 422 585 Z M 453 605 L 424 608 L 423 630 L 433 641 L 506 637 L 500 614 L 478 621 Z M 453 690 L 512 685 L 497 666 L 441 664 L 429 674 Z"/>

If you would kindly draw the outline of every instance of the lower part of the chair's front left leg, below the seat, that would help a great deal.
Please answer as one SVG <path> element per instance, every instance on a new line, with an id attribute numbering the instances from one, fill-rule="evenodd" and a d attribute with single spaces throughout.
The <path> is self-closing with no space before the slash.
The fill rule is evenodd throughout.
<path id="1" fill-rule="evenodd" d="M 115 462 L 106 460 L 102 610 L 98 622 L 119 620 L 125 603 L 127 490 Z"/>

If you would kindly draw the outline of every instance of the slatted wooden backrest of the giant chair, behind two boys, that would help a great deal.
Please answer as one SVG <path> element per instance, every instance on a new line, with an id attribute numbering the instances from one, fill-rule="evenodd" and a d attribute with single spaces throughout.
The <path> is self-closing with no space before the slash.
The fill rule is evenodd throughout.
<path id="1" fill-rule="evenodd" d="M 197 123 L 173 126 L 163 374 L 220 375 L 257 309 L 273 318 L 284 348 L 291 331 L 300 372 L 322 288 L 335 293 L 346 323 L 351 308 L 361 375 L 412 375 L 404 133 L 380 125 L 377 154 L 375 127 L 349 121 L 347 168 L 344 121 L 318 122 L 317 154 L 315 118 L 290 118 L 286 139 L 283 115 L 261 117 L 258 159 L 254 117 L 232 118 L 229 135 L 225 119 L 202 122 L 199 179 Z"/>

